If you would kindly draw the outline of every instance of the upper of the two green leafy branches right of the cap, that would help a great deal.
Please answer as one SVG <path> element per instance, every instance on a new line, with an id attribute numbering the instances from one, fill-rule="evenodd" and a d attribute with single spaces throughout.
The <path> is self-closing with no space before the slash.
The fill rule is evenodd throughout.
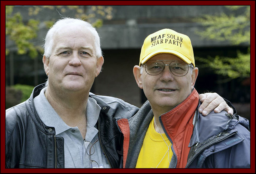
<path id="1" fill-rule="evenodd" d="M 234 12 L 243 6 L 226 6 Z M 229 40 L 232 44 L 250 43 L 250 6 L 246 6 L 240 15 L 221 13 L 218 16 L 204 15 L 195 19 L 206 27 L 204 31 L 196 31 L 206 39 Z"/>

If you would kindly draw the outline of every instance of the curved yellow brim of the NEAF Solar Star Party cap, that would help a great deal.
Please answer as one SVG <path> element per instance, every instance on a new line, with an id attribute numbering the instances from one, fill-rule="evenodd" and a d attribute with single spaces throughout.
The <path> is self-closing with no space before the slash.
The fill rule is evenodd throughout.
<path id="1" fill-rule="evenodd" d="M 170 50 L 170 49 L 160 49 L 160 50 L 156 50 L 153 51 L 152 53 L 148 54 L 142 61 L 141 64 L 144 64 L 145 62 L 148 61 L 148 59 L 150 59 L 151 57 L 153 57 L 154 55 L 160 54 L 160 53 L 169 53 L 169 54 L 173 54 L 176 55 L 177 57 L 179 57 L 180 59 L 182 59 L 184 62 L 186 62 L 187 64 L 191 64 L 191 60 L 189 60 L 186 56 L 184 56 L 183 54 L 179 53 L 178 51 L 175 50 Z M 141 66 L 141 64 L 139 66 Z"/>

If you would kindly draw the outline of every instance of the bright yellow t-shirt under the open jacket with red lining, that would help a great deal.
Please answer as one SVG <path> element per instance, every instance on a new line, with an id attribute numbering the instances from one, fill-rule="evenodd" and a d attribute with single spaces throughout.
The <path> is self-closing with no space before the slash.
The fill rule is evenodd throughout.
<path id="1" fill-rule="evenodd" d="M 166 144 L 169 146 L 169 150 Z M 168 168 L 172 156 L 171 142 L 165 134 L 156 132 L 153 117 L 148 126 L 135 168 Z"/>

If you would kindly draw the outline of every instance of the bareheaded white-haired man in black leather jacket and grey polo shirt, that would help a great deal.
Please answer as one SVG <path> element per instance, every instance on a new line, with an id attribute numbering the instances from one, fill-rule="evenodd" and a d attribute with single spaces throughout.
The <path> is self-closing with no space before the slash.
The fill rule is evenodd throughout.
<path id="1" fill-rule="evenodd" d="M 49 29 L 43 55 L 46 84 L 6 110 L 6 168 L 122 167 L 117 120 L 131 118 L 139 108 L 89 92 L 103 63 L 100 38 L 88 22 L 64 18 Z M 232 112 L 212 95 L 210 101 Z"/>

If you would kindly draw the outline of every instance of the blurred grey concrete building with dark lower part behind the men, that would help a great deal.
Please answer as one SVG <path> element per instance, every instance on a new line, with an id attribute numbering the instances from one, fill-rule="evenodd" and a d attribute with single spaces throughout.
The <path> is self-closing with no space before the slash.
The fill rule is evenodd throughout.
<path id="1" fill-rule="evenodd" d="M 184 33 L 191 38 L 195 56 L 207 57 L 222 55 L 234 56 L 237 49 L 246 52 L 249 45 L 232 46 L 230 42 L 206 40 L 195 34 L 202 26 L 193 19 L 204 14 L 217 15 L 227 11 L 219 5 L 114 5 L 111 20 L 104 20 L 98 33 L 101 37 L 104 54 L 103 71 L 95 79 L 91 92 L 97 95 L 118 97 L 124 101 L 141 106 L 145 101 L 143 91 L 137 87 L 132 73 L 134 65 L 139 64 L 140 49 L 144 39 L 151 33 L 163 28 L 170 28 Z M 27 13 L 28 7 L 15 7 L 14 11 Z M 86 7 L 85 7 L 86 8 Z M 41 20 L 61 18 L 57 11 L 42 11 L 38 16 Z M 67 17 L 73 17 L 72 12 Z M 24 15 L 24 20 L 30 17 Z M 40 24 L 37 45 L 43 45 L 46 28 Z M 32 60 L 26 55 L 17 55 L 13 42 L 6 41 L 6 47 L 11 48 L 14 56 L 14 84 L 29 84 L 45 82 L 42 56 Z M 12 49 L 13 48 L 13 49 Z M 36 64 L 37 69 L 33 69 Z M 197 62 L 196 62 L 197 64 Z M 9 58 L 6 57 L 6 85 L 10 84 Z M 35 75 L 37 79 L 35 80 Z M 250 83 L 233 80 L 227 83 L 217 83 L 219 77 L 211 71 L 200 69 L 195 88 L 199 93 L 217 92 L 219 95 L 236 104 L 240 115 L 250 116 Z"/>

